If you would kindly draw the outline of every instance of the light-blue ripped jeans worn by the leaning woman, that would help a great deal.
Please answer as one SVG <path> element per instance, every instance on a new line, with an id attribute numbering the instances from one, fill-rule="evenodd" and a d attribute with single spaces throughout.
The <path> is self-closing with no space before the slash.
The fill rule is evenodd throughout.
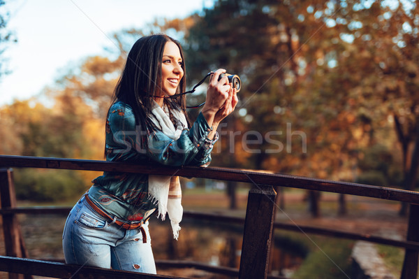
<path id="1" fill-rule="evenodd" d="M 83 196 L 64 226 L 66 263 L 156 274 L 148 222 L 142 227 L 147 234 L 147 243 L 142 243 L 140 229 L 123 229 L 108 222 Z"/>

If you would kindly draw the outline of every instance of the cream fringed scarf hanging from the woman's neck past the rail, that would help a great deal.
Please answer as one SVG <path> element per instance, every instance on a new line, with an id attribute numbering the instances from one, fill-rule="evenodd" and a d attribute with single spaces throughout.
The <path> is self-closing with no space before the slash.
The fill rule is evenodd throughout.
<path id="1" fill-rule="evenodd" d="M 167 106 L 164 109 L 157 103 L 152 109 L 150 120 L 161 128 L 164 134 L 173 140 L 177 140 L 182 134 L 183 129 L 188 127 L 186 117 L 182 111 L 171 110 L 173 117 L 179 120 L 177 127 L 170 120 L 169 110 Z M 152 199 L 159 203 L 159 213 L 157 217 L 165 220 L 166 213 L 169 215 L 172 224 L 173 236 L 177 240 L 179 237 L 179 223 L 182 221 L 182 189 L 180 187 L 179 176 L 155 176 L 149 175 L 149 195 Z"/>

